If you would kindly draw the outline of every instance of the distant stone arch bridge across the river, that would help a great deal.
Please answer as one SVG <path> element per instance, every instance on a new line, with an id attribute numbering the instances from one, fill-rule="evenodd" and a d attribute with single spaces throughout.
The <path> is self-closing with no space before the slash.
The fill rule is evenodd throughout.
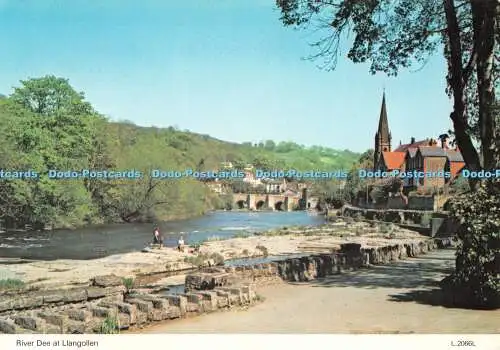
<path id="1" fill-rule="evenodd" d="M 233 202 L 235 209 L 278 211 L 305 210 L 308 204 L 300 195 L 249 193 L 235 193 Z"/>

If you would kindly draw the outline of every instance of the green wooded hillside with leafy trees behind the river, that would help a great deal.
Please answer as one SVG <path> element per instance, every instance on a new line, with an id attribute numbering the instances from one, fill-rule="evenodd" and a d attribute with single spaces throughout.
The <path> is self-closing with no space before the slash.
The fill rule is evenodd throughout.
<path id="1" fill-rule="evenodd" d="M 348 169 L 358 159 L 347 150 L 293 142 L 235 144 L 173 127 L 110 122 L 65 79 L 46 76 L 21 84 L 0 100 L 0 168 L 41 175 L 0 181 L 0 215 L 8 227 L 168 220 L 201 215 L 228 200 L 194 179 L 153 179 L 152 169 L 213 170 L 230 161 L 237 166 L 332 170 Z M 130 170 L 144 176 L 53 180 L 47 175 L 53 169 Z"/>

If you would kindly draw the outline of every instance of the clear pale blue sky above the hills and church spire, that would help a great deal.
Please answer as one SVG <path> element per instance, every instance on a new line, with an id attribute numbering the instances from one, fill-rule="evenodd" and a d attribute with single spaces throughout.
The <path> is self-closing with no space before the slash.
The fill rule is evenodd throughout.
<path id="1" fill-rule="evenodd" d="M 0 0 L 0 93 L 54 74 L 113 120 L 364 151 L 385 86 L 393 144 L 450 128 L 439 53 L 397 78 L 345 56 L 326 72 L 279 16 L 274 0 Z"/>

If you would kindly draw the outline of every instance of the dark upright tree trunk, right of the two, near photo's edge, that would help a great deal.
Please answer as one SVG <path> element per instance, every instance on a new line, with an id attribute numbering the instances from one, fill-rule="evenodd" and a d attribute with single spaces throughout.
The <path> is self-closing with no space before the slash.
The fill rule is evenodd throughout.
<path id="1" fill-rule="evenodd" d="M 477 90 L 479 96 L 479 134 L 483 168 L 494 169 L 496 123 L 493 115 L 495 91 L 493 64 L 495 27 L 498 15 L 497 0 L 474 0 L 471 3 L 474 41 L 477 43 Z"/>

